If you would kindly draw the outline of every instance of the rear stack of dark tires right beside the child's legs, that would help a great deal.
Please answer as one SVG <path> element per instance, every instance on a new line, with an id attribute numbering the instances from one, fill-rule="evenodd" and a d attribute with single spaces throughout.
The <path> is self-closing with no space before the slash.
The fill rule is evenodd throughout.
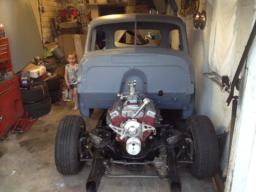
<path id="1" fill-rule="evenodd" d="M 48 85 L 51 103 L 59 101 L 59 93 L 61 92 L 61 75 L 55 73 L 51 76 L 50 79 L 46 80 L 45 82 Z"/>

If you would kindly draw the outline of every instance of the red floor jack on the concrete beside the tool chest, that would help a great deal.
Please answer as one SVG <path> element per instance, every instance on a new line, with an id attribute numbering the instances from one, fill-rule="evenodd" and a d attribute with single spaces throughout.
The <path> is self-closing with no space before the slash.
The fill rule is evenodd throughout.
<path id="1" fill-rule="evenodd" d="M 26 112 L 24 117 L 18 119 L 11 133 L 23 134 L 35 123 L 35 121 L 37 121 L 37 119 L 32 119 L 32 116 L 28 117 L 28 112 Z"/>

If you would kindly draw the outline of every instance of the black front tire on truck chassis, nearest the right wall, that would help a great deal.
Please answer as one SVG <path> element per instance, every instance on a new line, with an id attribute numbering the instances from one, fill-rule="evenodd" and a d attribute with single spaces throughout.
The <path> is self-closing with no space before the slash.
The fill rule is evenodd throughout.
<path id="1" fill-rule="evenodd" d="M 194 163 L 188 167 L 196 177 L 213 176 L 219 164 L 219 149 L 216 131 L 211 120 L 204 115 L 187 118 L 186 132 L 194 141 Z"/>

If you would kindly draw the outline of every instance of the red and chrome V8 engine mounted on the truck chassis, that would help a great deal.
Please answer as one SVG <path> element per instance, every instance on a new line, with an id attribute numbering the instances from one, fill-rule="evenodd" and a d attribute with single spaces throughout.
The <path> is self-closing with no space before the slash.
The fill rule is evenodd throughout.
<path id="1" fill-rule="evenodd" d="M 126 151 L 136 155 L 141 151 L 142 142 L 156 134 L 155 125 L 162 117 L 153 101 L 145 98 L 135 89 L 136 80 L 128 81 L 129 92 L 117 94 L 117 99 L 108 110 L 106 121 L 115 133 L 117 141 L 126 142 Z"/>

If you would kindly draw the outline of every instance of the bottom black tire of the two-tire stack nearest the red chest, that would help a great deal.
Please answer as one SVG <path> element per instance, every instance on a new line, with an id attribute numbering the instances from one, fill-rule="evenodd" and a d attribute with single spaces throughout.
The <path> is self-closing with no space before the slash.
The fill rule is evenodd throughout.
<path id="1" fill-rule="evenodd" d="M 24 114 L 28 112 L 29 115 L 32 116 L 32 118 L 41 117 L 51 111 L 51 98 L 47 97 L 40 102 L 23 104 L 23 109 Z"/>

